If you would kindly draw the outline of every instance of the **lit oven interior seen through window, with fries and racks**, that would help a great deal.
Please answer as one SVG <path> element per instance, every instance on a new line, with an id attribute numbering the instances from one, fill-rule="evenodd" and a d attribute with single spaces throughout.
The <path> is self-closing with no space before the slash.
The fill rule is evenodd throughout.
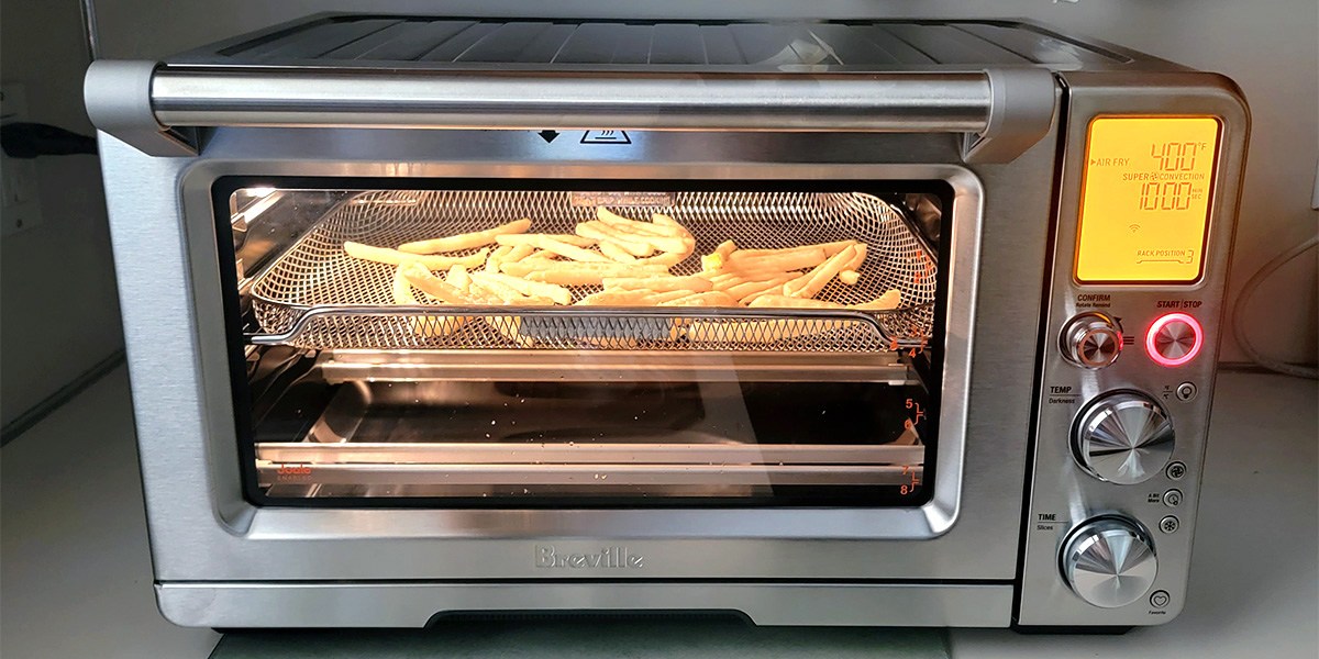
<path id="1" fill-rule="evenodd" d="M 212 191 L 257 505 L 930 497 L 944 182 Z"/>

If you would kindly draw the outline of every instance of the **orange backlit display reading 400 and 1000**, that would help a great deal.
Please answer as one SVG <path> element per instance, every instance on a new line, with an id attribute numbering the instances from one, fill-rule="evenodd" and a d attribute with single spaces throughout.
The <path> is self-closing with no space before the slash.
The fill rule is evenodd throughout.
<path id="1" fill-rule="evenodd" d="M 1076 279 L 1199 279 L 1217 148 L 1219 121 L 1213 117 L 1091 121 Z"/>

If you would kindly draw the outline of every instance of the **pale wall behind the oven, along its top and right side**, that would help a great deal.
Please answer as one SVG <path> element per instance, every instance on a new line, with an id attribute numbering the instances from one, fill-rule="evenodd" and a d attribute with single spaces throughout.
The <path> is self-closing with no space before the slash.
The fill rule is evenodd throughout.
<path id="1" fill-rule="evenodd" d="M 67 1 L 67 0 L 65 0 Z M 596 17 L 1026 17 L 1232 76 L 1254 117 L 1232 272 L 1232 295 L 1264 262 L 1316 229 L 1310 208 L 1319 161 L 1319 4 L 1315 0 L 99 0 L 100 57 L 160 58 L 323 11 L 454 16 Z M 1294 262 L 1249 312 L 1270 356 L 1314 362 L 1316 257 Z M 1225 361 L 1242 360 L 1235 339 Z"/>

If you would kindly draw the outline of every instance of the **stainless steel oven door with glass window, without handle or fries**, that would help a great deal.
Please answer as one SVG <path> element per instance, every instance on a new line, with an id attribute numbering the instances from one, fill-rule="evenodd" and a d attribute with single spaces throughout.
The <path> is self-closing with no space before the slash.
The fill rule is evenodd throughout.
<path id="1" fill-rule="evenodd" d="M 1009 622 L 1050 140 L 968 166 L 952 134 L 628 136 L 220 128 L 153 158 L 102 134 L 170 619 Z M 699 278 L 725 240 L 867 254 L 802 308 L 579 304 L 603 278 L 437 302 L 344 252 L 522 217 L 572 244 L 600 208 L 691 235 L 642 277 Z M 475 277 L 504 244 L 441 256 Z"/>

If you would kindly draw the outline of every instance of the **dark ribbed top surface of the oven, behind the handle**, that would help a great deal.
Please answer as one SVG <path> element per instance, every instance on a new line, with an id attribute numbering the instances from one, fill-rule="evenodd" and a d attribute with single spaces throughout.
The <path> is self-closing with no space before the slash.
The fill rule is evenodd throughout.
<path id="1" fill-rule="evenodd" d="M 169 63 L 699 72 L 1170 66 L 1009 21 L 594 21 L 317 16 Z"/>

